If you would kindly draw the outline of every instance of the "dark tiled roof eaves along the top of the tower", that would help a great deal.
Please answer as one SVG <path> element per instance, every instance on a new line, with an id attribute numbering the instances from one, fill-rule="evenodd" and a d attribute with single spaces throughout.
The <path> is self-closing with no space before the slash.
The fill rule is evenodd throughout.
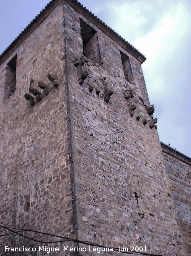
<path id="1" fill-rule="evenodd" d="M 142 64 L 146 57 L 142 55 L 133 45 L 126 41 L 116 31 L 107 26 L 102 20 L 97 18 L 92 12 L 84 7 L 78 0 L 51 0 L 44 9 L 29 23 L 26 28 L 13 40 L 13 42 L 3 51 L 0 55 L 0 64 L 2 64 L 10 55 L 15 51 L 21 43 L 47 18 L 47 16 L 61 3 L 68 3 L 74 10 L 84 15 L 95 26 L 102 30 L 106 35 L 112 38 L 113 41 L 118 43 L 122 48 L 131 53 Z"/>

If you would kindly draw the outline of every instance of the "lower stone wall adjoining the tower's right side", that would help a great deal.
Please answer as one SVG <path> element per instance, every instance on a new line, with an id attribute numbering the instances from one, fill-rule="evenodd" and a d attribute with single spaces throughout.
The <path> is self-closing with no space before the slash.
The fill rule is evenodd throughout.
<path id="1" fill-rule="evenodd" d="M 180 218 L 180 226 L 186 242 L 188 255 L 191 255 L 191 160 L 162 146 L 165 166 L 170 176 L 173 197 Z"/>

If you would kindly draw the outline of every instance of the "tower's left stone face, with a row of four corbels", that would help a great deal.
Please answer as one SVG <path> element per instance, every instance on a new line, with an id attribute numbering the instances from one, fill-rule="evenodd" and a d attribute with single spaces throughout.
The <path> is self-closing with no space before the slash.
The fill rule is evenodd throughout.
<path id="1" fill-rule="evenodd" d="M 73 168 L 64 42 L 61 3 L 0 66 L 0 222 L 73 237 L 75 210 L 71 195 Z M 16 54 L 16 90 L 3 101 L 6 63 Z M 57 88 L 47 78 L 48 73 L 58 76 Z M 39 91 L 42 90 L 38 81 L 50 86 L 49 95 L 44 95 L 33 107 L 24 98 L 29 93 L 30 79 L 35 80 L 33 86 Z M 1 234 L 10 233 L 0 230 Z M 22 234 L 52 240 L 49 236 Z M 42 245 L 47 246 L 18 235 L 5 236 L 0 238 L 0 255 L 17 255 L 5 253 L 4 246 Z"/>

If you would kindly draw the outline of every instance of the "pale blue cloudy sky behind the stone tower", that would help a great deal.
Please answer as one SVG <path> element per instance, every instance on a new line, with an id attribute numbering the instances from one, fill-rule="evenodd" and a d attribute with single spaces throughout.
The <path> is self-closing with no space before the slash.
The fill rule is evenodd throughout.
<path id="1" fill-rule="evenodd" d="M 0 53 L 49 0 L 0 0 Z M 160 141 L 191 157 L 191 0 L 81 0 L 143 53 Z"/>

